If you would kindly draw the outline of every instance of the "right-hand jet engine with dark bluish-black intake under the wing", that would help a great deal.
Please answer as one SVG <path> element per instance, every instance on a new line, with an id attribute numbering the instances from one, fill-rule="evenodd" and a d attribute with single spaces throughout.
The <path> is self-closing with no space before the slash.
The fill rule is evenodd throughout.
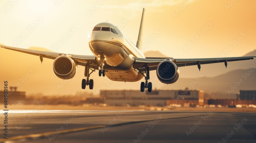
<path id="1" fill-rule="evenodd" d="M 156 75 L 162 83 L 173 84 L 179 78 L 179 68 L 168 58 L 157 66 Z"/>

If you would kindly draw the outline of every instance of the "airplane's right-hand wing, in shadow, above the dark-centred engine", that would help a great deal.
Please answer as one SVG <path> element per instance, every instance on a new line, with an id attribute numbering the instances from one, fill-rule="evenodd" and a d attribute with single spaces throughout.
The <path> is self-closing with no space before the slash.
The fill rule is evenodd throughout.
<path id="1" fill-rule="evenodd" d="M 249 60 L 253 59 L 256 56 L 246 56 L 246 57 L 225 57 L 225 58 L 191 58 L 191 59 L 179 59 L 179 58 L 169 58 L 174 62 L 177 67 L 184 67 L 184 66 L 192 66 L 201 64 L 212 64 L 212 63 L 225 63 L 233 62 L 233 61 L 242 61 L 242 60 Z M 133 65 L 134 68 L 141 69 L 142 71 L 145 69 L 145 65 L 149 67 L 149 70 L 156 70 L 159 63 L 164 61 L 166 58 L 134 58 L 135 63 Z"/>

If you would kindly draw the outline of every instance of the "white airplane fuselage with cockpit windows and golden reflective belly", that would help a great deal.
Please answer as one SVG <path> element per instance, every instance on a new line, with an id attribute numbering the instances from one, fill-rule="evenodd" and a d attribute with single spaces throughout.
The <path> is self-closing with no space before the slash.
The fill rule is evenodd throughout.
<path id="1" fill-rule="evenodd" d="M 97 58 L 105 58 L 104 69 L 109 79 L 134 82 L 143 78 L 132 65 L 134 57 L 145 56 L 118 27 L 108 22 L 98 23 L 88 34 L 88 42 Z"/>

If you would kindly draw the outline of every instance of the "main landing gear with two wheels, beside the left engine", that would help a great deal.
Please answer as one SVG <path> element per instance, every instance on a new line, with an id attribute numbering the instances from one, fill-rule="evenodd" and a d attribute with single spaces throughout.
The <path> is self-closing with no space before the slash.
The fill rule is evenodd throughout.
<path id="1" fill-rule="evenodd" d="M 99 66 L 97 66 L 95 69 L 91 69 L 91 73 L 95 71 Z M 93 89 L 93 79 L 89 80 L 89 77 L 91 75 L 90 72 L 90 63 L 87 63 L 84 70 L 84 76 L 87 77 L 86 79 L 82 79 L 82 89 L 85 89 L 87 85 L 89 85 L 90 89 Z"/>

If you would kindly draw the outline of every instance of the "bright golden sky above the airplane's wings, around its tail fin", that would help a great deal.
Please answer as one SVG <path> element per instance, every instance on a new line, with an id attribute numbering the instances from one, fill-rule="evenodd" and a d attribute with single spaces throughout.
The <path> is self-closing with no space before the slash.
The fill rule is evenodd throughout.
<path id="1" fill-rule="evenodd" d="M 242 56 L 256 47 L 255 4 L 254 0 L 23 0 L 15 4 L 3 0 L 0 2 L 0 43 L 51 49 L 62 41 L 55 52 L 92 55 L 87 35 L 93 25 L 108 20 L 136 44 L 145 8 L 143 52 L 159 50 L 175 58 L 219 57 L 223 49 L 232 46 L 225 57 Z M 12 6 L 6 10 L 6 5 Z M 63 41 L 63 34 L 70 28 L 75 31 Z M 14 44 L 26 30 L 29 34 Z M 160 33 L 152 37 L 155 31 Z M 239 38 L 240 33 L 245 36 L 234 46 L 231 42 Z M 185 51 L 184 46 L 197 35 L 199 39 Z"/>

